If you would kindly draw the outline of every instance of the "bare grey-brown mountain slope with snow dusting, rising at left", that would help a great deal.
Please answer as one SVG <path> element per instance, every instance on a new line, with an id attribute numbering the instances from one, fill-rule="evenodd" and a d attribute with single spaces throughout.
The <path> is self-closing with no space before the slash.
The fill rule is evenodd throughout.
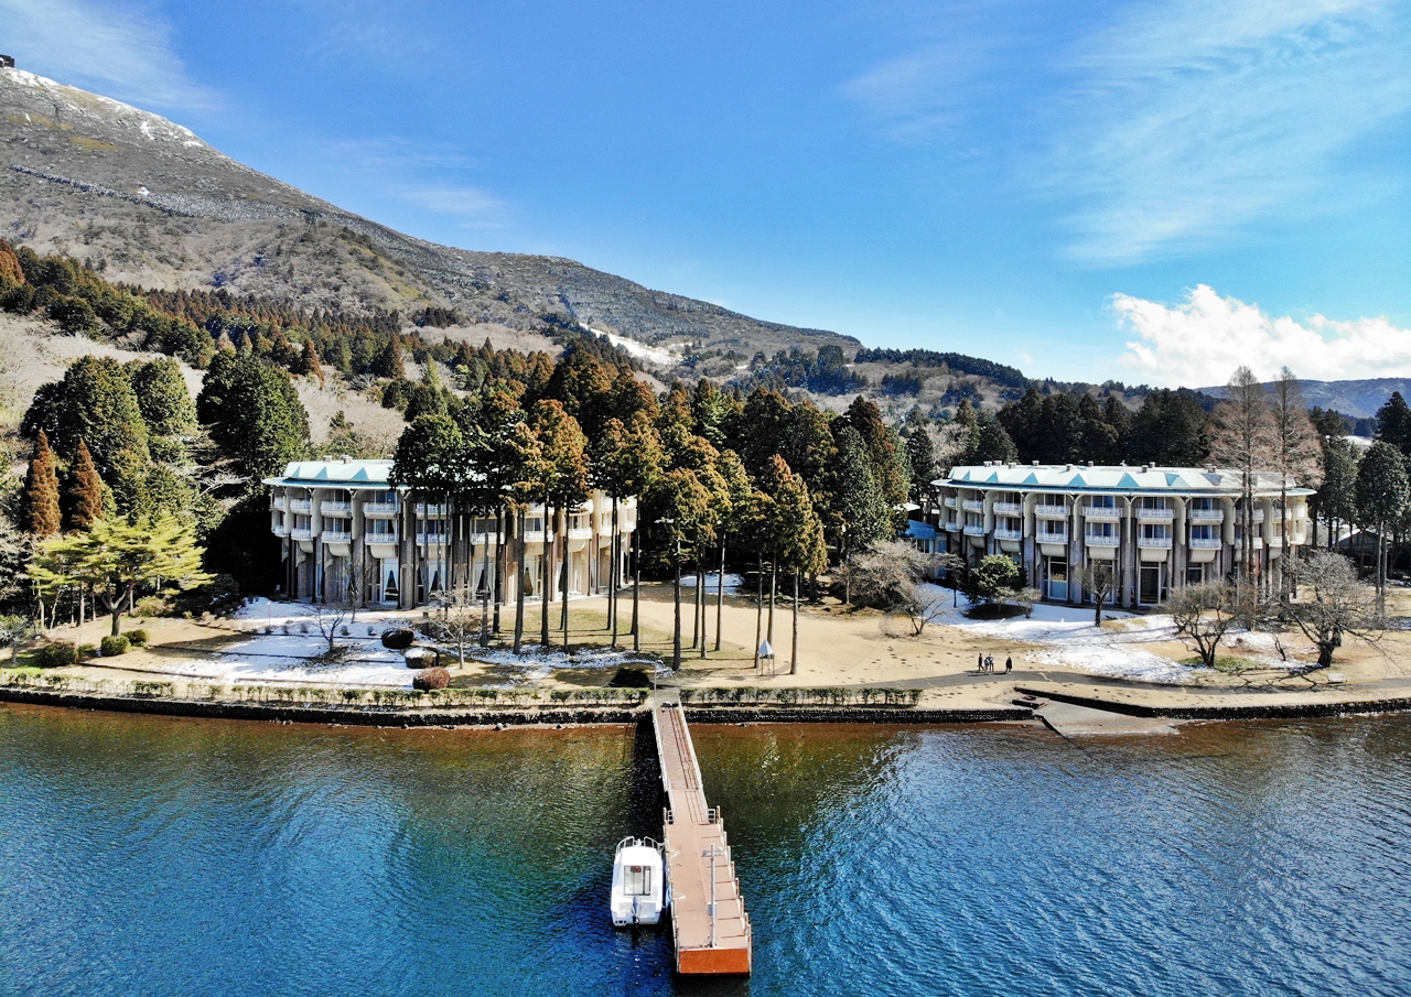
<path id="1" fill-rule="evenodd" d="M 404 236 L 244 166 L 164 117 L 0 69 L 0 236 L 113 281 L 229 288 L 302 307 L 453 309 L 467 324 L 588 327 L 728 375 L 763 351 L 858 340 L 761 322 L 571 259 Z"/>

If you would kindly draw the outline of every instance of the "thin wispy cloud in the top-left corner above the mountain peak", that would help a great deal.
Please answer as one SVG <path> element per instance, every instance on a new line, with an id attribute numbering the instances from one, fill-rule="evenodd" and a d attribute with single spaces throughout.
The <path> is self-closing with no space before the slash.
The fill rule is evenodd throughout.
<path id="1" fill-rule="evenodd" d="M 143 107 L 206 110 L 219 94 L 190 79 L 152 10 L 89 0 L 0 0 L 16 65 Z"/>

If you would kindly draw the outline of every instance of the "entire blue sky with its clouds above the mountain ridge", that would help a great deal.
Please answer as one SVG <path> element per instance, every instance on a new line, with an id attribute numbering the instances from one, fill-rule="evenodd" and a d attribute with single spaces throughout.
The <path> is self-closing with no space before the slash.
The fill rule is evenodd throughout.
<path id="1" fill-rule="evenodd" d="M 871 345 L 1411 374 L 1407 4 L 0 0 L 0 44 L 406 233 Z"/>

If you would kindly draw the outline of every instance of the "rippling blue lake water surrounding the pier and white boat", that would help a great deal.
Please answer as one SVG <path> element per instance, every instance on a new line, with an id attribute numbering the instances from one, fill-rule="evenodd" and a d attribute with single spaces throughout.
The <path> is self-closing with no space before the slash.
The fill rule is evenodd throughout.
<path id="1" fill-rule="evenodd" d="M 694 736 L 749 981 L 608 924 L 631 728 L 0 708 L 0 993 L 1411 993 L 1411 718 Z"/>

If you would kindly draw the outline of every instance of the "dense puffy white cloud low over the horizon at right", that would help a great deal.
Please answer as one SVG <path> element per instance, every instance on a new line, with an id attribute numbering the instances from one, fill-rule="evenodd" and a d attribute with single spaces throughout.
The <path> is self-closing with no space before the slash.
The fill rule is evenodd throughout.
<path id="1" fill-rule="evenodd" d="M 1411 377 L 1411 329 L 1386 319 L 1274 319 L 1204 283 L 1175 307 L 1130 295 L 1113 295 L 1112 307 L 1140 337 L 1122 362 L 1147 384 L 1222 385 L 1242 364 L 1263 381 L 1281 367 L 1318 381 Z"/>

